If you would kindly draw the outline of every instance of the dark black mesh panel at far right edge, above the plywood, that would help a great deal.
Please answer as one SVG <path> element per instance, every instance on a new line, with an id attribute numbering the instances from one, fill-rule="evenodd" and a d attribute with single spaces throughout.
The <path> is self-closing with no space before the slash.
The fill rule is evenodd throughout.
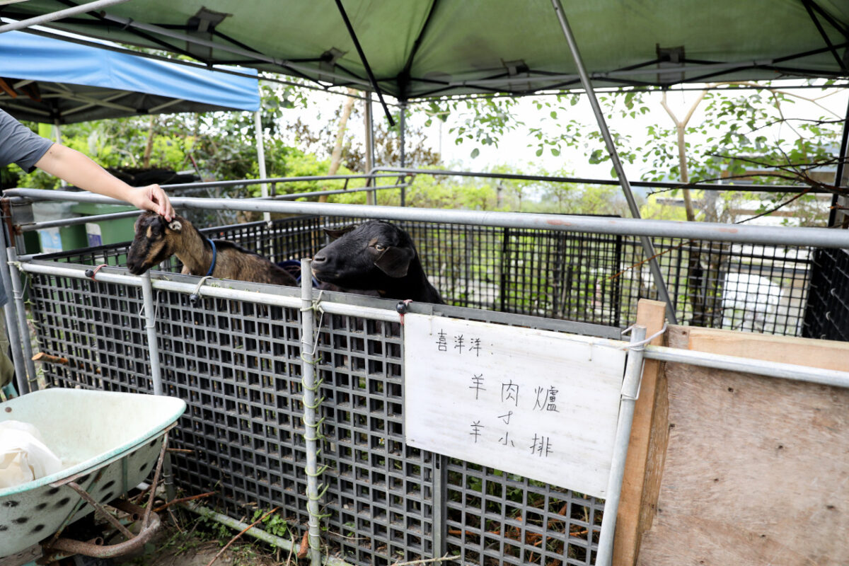
<path id="1" fill-rule="evenodd" d="M 817 249 L 812 271 L 803 335 L 849 341 L 849 250 Z"/>

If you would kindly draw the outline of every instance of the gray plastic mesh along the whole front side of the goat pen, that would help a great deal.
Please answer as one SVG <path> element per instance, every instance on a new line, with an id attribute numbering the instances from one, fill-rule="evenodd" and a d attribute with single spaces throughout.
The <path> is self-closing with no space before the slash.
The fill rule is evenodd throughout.
<path id="1" fill-rule="evenodd" d="M 42 351 L 69 360 L 45 365 L 48 384 L 150 392 L 138 289 L 33 275 L 31 294 Z M 216 490 L 217 506 L 231 517 L 282 505 L 300 535 L 300 313 L 212 298 L 191 305 L 185 294 L 157 294 L 164 388 L 188 403 L 173 440 L 191 451 L 174 455 L 177 486 L 190 494 Z M 440 549 L 464 563 L 593 563 L 603 502 L 405 445 L 397 322 L 327 316 L 319 337 L 320 462 L 329 466 L 322 511 L 332 552 L 356 564 L 432 558 Z"/>

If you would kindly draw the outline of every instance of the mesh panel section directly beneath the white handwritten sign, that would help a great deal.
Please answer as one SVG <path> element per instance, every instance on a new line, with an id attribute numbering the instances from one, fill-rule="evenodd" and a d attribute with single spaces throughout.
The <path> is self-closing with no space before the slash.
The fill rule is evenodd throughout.
<path id="1" fill-rule="evenodd" d="M 447 552 L 464 564 L 592 564 L 604 502 L 450 459 Z"/>

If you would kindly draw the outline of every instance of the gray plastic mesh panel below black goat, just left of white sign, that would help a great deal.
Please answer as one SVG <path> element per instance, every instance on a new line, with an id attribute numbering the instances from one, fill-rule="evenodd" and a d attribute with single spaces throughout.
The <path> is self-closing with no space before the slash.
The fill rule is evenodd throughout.
<path id="1" fill-rule="evenodd" d="M 401 325 L 325 319 L 318 367 L 331 540 L 359 564 L 431 558 L 434 457 L 404 444 Z"/>

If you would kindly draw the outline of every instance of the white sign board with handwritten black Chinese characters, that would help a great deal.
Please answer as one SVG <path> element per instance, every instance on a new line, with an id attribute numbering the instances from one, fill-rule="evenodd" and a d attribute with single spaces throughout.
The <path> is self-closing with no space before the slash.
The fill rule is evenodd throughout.
<path id="1" fill-rule="evenodd" d="M 604 497 L 625 371 L 621 346 L 408 314 L 407 443 Z"/>

